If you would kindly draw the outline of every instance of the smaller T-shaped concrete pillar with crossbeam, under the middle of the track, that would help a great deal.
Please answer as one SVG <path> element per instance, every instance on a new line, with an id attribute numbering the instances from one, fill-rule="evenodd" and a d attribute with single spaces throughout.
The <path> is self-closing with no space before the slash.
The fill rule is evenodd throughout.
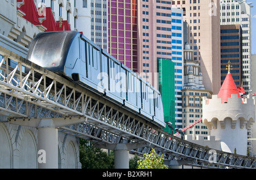
<path id="1" fill-rule="evenodd" d="M 129 169 L 129 150 L 148 147 L 148 143 L 96 144 L 98 148 L 115 151 L 115 169 Z"/>

